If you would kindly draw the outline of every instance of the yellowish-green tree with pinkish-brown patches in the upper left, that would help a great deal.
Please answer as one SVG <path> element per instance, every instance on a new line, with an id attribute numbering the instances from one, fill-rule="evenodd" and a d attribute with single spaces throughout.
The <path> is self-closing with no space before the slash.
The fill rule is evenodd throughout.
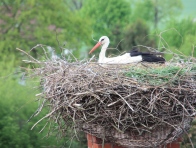
<path id="1" fill-rule="evenodd" d="M 70 50 L 89 40 L 86 19 L 71 12 L 63 1 L 3 0 L 0 6 L 0 13 L 5 14 L 0 16 L 1 53 L 13 52 L 18 58 L 21 55 L 16 47 L 29 51 L 40 43 L 58 49 L 56 31 L 60 45 L 66 43 L 65 47 Z M 40 51 L 32 52 L 37 56 Z"/>

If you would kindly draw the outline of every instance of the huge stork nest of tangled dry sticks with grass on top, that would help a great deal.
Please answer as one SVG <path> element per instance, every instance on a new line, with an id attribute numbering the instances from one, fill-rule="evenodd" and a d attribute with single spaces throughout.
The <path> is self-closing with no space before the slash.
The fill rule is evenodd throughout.
<path id="1" fill-rule="evenodd" d="M 84 131 L 126 147 L 158 147 L 190 128 L 196 107 L 196 66 L 99 65 L 36 61 L 43 107 L 62 134 Z M 37 124 L 35 123 L 35 125 Z M 35 126 L 34 125 L 34 126 Z"/>

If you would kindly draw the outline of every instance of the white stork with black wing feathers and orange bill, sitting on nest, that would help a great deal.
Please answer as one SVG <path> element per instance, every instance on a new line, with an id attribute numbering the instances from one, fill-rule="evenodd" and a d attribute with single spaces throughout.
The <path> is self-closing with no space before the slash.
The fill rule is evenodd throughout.
<path id="1" fill-rule="evenodd" d="M 106 50 L 110 44 L 110 40 L 107 36 L 102 36 L 98 43 L 91 49 L 89 54 L 95 51 L 99 46 L 102 45 L 101 52 L 99 54 L 98 63 L 108 63 L 108 64 L 128 64 L 134 62 L 159 62 L 164 63 L 165 59 L 163 57 L 158 57 L 152 53 L 139 52 L 137 50 L 132 50 L 130 53 L 125 53 L 121 56 L 107 58 L 105 56 Z"/>

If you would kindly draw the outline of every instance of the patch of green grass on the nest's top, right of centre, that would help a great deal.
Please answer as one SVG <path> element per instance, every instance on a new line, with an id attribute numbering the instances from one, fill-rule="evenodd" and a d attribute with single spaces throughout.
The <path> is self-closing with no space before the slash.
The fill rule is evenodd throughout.
<path id="1" fill-rule="evenodd" d="M 176 81 L 187 73 L 195 74 L 196 65 L 189 68 L 188 65 L 180 67 L 176 65 L 160 66 L 156 68 L 131 68 L 125 76 L 136 79 L 139 83 L 148 85 L 175 84 Z"/>

